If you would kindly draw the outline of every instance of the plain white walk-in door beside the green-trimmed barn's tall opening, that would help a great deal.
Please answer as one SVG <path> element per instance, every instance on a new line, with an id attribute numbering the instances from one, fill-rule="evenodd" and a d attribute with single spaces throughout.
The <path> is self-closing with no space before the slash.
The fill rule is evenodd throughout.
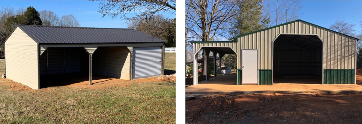
<path id="1" fill-rule="evenodd" d="M 258 84 L 258 50 L 242 50 L 242 83 Z"/>

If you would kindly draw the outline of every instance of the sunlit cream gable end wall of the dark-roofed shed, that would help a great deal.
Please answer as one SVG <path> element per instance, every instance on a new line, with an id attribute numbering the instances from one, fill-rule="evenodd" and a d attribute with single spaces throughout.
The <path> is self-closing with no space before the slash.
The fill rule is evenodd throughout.
<path id="1" fill-rule="evenodd" d="M 20 28 L 5 42 L 5 63 L 7 78 L 39 89 L 38 44 Z"/>

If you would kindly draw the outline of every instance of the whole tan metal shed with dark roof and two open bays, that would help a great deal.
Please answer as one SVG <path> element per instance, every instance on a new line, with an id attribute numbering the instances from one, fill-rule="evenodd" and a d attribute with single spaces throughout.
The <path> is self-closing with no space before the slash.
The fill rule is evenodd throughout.
<path id="1" fill-rule="evenodd" d="M 165 41 L 134 29 L 18 25 L 5 42 L 6 78 L 40 89 L 86 74 L 132 80 L 164 74 Z"/>

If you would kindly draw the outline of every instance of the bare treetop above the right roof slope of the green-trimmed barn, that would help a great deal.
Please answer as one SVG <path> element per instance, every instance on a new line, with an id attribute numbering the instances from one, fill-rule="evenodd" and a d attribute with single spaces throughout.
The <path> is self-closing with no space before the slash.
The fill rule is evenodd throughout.
<path id="1" fill-rule="evenodd" d="M 342 21 L 335 21 L 331 26 L 329 26 L 329 29 L 337 31 L 342 34 L 346 35 L 353 35 L 356 30 L 354 30 L 355 24 L 349 24 L 348 22 L 345 22 L 345 20 Z"/>

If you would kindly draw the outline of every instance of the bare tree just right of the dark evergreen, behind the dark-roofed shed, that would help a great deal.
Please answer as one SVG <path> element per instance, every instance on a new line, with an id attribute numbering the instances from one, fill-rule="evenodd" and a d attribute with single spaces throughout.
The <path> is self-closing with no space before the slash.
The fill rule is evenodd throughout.
<path id="1" fill-rule="evenodd" d="M 46 25 L 46 26 L 58 26 L 59 25 L 59 17 L 50 10 L 40 11 L 39 16 L 43 22 L 43 25 Z"/>

